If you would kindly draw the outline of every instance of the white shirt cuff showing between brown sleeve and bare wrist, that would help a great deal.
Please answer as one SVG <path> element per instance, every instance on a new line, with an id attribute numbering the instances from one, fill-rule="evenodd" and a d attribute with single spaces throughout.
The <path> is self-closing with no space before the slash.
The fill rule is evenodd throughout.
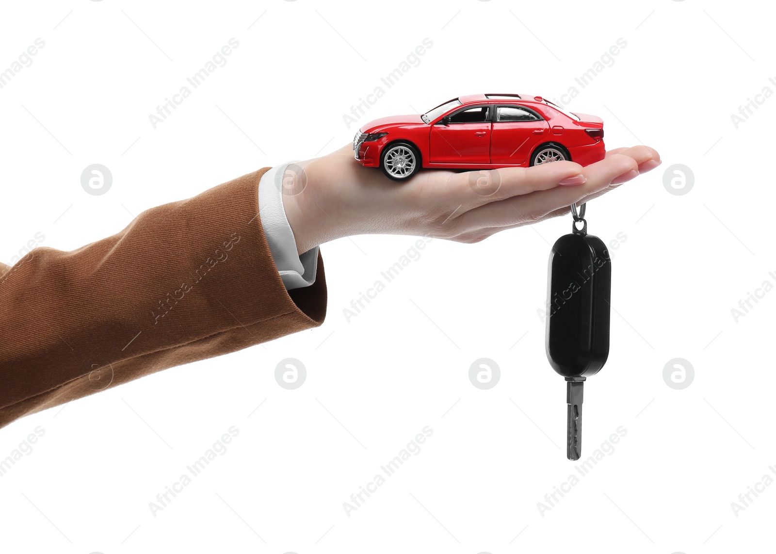
<path id="1" fill-rule="evenodd" d="M 296 253 L 296 238 L 283 208 L 282 177 L 290 163 L 293 161 L 276 165 L 258 182 L 258 216 L 286 290 L 312 285 L 318 265 L 318 247 Z"/>

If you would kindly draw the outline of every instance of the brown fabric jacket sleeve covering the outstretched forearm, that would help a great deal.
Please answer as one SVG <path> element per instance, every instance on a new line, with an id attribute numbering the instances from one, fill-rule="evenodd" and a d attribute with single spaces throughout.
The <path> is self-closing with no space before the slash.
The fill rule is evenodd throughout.
<path id="1" fill-rule="evenodd" d="M 269 168 L 140 213 L 111 237 L 40 247 L 0 277 L 0 427 L 139 377 L 317 327 L 286 291 L 258 216 Z"/>

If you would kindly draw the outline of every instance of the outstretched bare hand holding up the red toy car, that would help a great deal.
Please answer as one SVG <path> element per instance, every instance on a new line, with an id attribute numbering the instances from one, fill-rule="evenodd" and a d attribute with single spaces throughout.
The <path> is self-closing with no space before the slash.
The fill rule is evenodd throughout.
<path id="1" fill-rule="evenodd" d="M 355 234 L 407 234 L 475 243 L 505 229 L 570 212 L 660 165 L 646 146 L 617 148 L 582 167 L 556 161 L 531 168 L 424 170 L 407 182 L 362 167 L 352 145 L 299 164 L 283 176 L 283 206 L 299 253 Z"/>

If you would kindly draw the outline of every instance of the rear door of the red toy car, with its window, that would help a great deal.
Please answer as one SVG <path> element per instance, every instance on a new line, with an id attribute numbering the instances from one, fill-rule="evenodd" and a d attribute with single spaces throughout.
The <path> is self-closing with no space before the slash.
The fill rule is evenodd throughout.
<path id="1" fill-rule="evenodd" d="M 533 149 L 549 135 L 549 125 L 539 113 L 523 106 L 497 106 L 490 138 L 493 164 L 526 164 Z"/>

